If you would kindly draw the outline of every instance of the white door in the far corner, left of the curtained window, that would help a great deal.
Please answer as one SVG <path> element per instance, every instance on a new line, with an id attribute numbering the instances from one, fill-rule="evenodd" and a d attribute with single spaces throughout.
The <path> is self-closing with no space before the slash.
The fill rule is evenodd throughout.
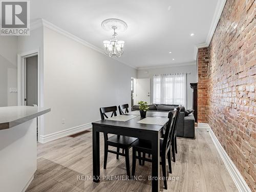
<path id="1" fill-rule="evenodd" d="M 146 101 L 150 104 L 150 96 L 150 78 L 137 79 L 136 102 Z"/>

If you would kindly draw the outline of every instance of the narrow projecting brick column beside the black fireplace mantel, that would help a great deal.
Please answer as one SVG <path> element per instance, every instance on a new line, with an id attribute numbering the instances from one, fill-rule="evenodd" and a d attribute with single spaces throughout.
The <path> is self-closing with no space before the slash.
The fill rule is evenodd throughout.
<path id="1" fill-rule="evenodd" d="M 198 49 L 197 66 L 198 66 L 198 122 L 208 122 L 208 48 Z"/>

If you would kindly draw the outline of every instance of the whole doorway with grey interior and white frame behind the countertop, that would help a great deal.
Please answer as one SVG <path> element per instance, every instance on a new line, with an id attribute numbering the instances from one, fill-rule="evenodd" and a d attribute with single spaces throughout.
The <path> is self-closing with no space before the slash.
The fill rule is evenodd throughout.
<path id="1" fill-rule="evenodd" d="M 44 64 L 40 59 L 40 50 L 19 53 L 17 65 L 18 105 L 44 107 Z M 42 141 L 44 116 L 37 118 L 37 140 Z"/>

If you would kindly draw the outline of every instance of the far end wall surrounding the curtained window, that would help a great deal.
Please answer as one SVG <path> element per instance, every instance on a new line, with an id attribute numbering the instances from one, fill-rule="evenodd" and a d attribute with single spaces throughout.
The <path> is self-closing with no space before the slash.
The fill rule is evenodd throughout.
<path id="1" fill-rule="evenodd" d="M 186 65 L 186 66 L 183 65 L 183 66 L 174 66 L 174 67 L 166 67 L 166 68 L 138 70 L 137 78 L 151 78 L 151 90 L 153 90 L 152 82 L 153 82 L 153 75 L 155 75 L 155 74 L 190 73 L 190 74 L 187 74 L 186 103 L 187 103 L 187 109 L 192 109 L 193 89 L 190 88 L 190 83 L 197 82 L 197 72 L 196 72 L 196 62 L 188 63 L 188 64 L 189 65 Z M 152 97 L 151 97 L 151 103 L 152 103 Z M 173 104 L 175 104 L 175 103 L 173 103 Z"/>

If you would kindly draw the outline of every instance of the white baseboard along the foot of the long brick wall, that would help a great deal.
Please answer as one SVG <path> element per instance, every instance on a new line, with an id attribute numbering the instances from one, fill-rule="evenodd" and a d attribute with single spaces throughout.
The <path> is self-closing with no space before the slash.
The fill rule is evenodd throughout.
<path id="1" fill-rule="evenodd" d="M 225 164 L 225 166 L 226 166 L 226 168 L 227 168 L 231 178 L 233 179 L 234 183 L 238 187 L 238 190 L 240 192 L 251 192 L 251 189 L 249 188 L 249 186 L 245 182 L 244 178 L 240 174 L 238 168 L 236 167 L 236 165 L 234 165 L 232 160 L 229 158 L 229 156 L 227 155 L 226 151 L 222 147 L 221 143 L 217 139 L 216 135 L 210 129 L 210 126 L 207 123 L 202 123 L 202 124 L 204 126 L 207 125 L 207 129 L 209 131 L 210 137 L 211 137 L 212 141 L 214 142 L 214 144 L 215 144 L 215 146 L 217 148 L 217 151 L 219 152 L 219 154 L 221 156 L 221 159 L 223 160 L 223 162 L 224 162 L 224 164 Z"/>

